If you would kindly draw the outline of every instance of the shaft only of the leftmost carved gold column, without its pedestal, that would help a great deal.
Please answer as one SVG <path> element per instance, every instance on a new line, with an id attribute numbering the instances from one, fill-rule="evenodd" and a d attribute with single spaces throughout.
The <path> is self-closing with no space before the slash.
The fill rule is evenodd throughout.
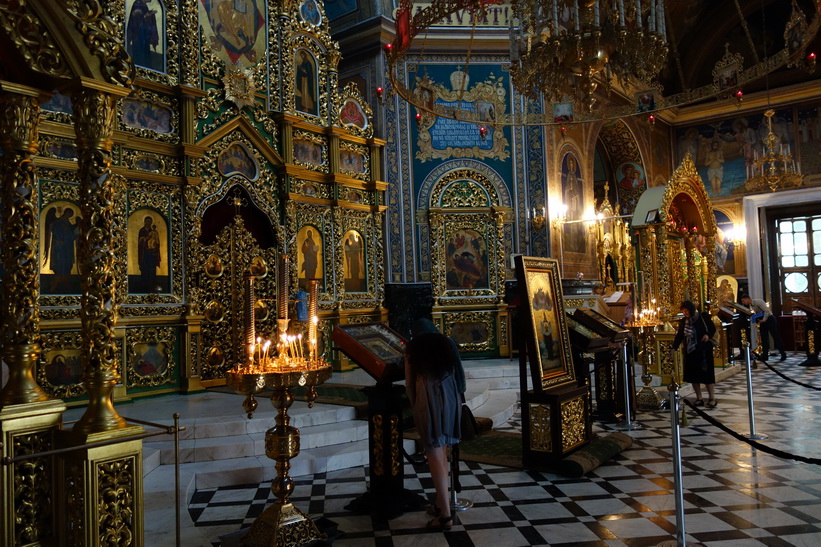
<path id="1" fill-rule="evenodd" d="M 34 379 L 40 358 L 40 237 L 37 175 L 31 156 L 38 146 L 40 101 L 35 90 L 5 82 L 2 90 L 2 344 L 9 381 L 0 392 L 0 408 L 48 399 Z"/>

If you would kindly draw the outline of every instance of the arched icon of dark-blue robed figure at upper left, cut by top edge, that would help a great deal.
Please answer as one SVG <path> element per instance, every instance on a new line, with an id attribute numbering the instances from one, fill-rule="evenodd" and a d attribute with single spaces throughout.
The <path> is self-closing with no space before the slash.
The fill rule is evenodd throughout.
<path id="1" fill-rule="evenodd" d="M 134 64 L 165 72 L 165 6 L 162 0 L 126 0 L 125 49 Z"/>

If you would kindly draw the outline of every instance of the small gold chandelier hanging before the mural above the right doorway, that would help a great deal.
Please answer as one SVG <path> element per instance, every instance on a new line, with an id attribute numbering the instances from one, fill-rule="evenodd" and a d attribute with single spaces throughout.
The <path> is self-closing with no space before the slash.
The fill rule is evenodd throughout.
<path id="1" fill-rule="evenodd" d="M 804 175 L 790 152 L 789 144 L 782 144 L 781 138 L 773 133 L 773 109 L 767 110 L 767 138 L 763 140 L 764 150 L 755 151 L 749 166 L 746 182 L 747 190 L 761 191 L 769 188 L 773 192 L 779 188 L 801 186 Z"/>

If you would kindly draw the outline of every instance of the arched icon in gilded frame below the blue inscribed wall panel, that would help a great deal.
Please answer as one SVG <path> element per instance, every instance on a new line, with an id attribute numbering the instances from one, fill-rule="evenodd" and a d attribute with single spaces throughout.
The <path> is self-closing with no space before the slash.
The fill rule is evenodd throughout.
<path id="1" fill-rule="evenodd" d="M 487 289 L 488 255 L 485 238 L 475 230 L 456 230 L 447 240 L 447 290 Z"/>

